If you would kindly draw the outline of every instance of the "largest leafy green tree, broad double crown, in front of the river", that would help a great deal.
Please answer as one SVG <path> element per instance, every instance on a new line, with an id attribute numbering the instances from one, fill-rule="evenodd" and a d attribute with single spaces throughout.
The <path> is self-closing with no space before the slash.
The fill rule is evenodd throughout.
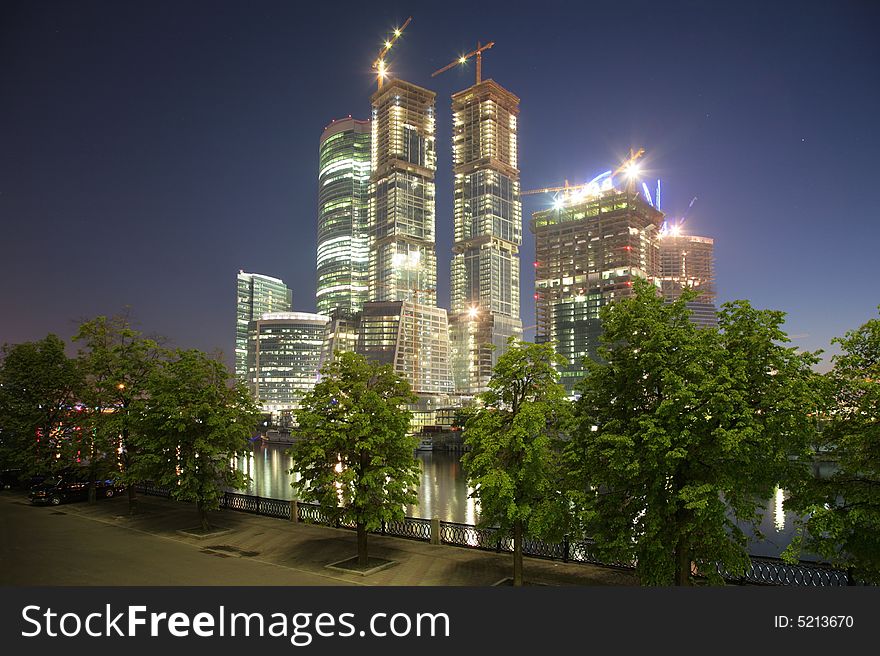
<path id="1" fill-rule="evenodd" d="M 781 312 L 722 306 L 718 329 L 637 281 L 605 306 L 602 362 L 586 361 L 567 452 L 583 529 L 645 585 L 742 575 L 759 508 L 803 462 L 816 362 L 785 346 Z"/>

